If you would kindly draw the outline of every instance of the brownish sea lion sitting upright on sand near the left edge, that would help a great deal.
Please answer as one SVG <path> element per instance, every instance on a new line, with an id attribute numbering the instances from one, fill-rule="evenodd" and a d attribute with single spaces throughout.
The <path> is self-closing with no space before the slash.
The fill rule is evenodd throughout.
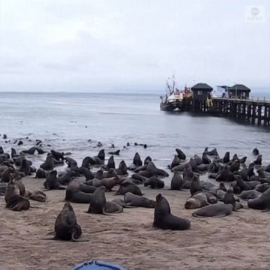
<path id="1" fill-rule="evenodd" d="M 30 208 L 29 200 L 20 195 L 20 190 L 13 180 L 8 183 L 5 200 L 9 210 L 22 211 Z"/>

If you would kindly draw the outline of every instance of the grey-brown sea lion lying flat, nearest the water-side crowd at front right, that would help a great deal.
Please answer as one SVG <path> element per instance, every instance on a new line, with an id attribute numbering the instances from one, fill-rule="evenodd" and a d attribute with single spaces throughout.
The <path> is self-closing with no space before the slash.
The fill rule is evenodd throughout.
<path id="1" fill-rule="evenodd" d="M 195 211 L 193 217 L 226 217 L 233 212 L 233 205 L 224 205 L 216 203 L 215 205 L 207 205 Z"/>

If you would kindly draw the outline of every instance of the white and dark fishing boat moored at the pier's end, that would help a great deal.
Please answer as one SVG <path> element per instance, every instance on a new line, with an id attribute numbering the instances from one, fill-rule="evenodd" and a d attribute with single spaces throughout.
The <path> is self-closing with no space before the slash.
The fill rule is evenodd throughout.
<path id="1" fill-rule="evenodd" d="M 166 81 L 166 94 L 160 96 L 160 110 L 167 110 L 169 112 L 183 112 L 186 104 L 186 98 L 190 97 L 190 89 L 185 86 L 184 91 L 180 91 L 175 87 L 175 76 L 172 75 L 171 83 L 169 79 Z"/>

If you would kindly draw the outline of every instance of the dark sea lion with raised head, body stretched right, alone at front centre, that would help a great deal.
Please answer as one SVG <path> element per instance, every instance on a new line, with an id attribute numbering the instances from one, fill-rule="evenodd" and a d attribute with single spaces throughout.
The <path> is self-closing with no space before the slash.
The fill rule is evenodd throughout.
<path id="1" fill-rule="evenodd" d="M 171 214 L 169 203 L 161 194 L 158 194 L 155 203 L 153 227 L 163 230 L 186 230 L 191 226 L 191 221 Z"/>

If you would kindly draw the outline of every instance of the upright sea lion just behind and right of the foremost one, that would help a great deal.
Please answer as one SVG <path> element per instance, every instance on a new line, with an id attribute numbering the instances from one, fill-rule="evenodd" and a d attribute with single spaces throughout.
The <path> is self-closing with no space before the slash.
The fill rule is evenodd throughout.
<path id="1" fill-rule="evenodd" d="M 99 188 L 96 188 L 96 191 L 93 193 L 87 213 L 107 214 L 105 208 L 106 208 L 105 187 L 101 186 Z M 112 207 L 112 205 L 108 205 L 108 210 L 114 210 L 114 207 Z M 117 207 L 116 211 L 117 212 L 115 213 L 122 212 L 122 210 L 120 211 L 119 207 Z"/>

